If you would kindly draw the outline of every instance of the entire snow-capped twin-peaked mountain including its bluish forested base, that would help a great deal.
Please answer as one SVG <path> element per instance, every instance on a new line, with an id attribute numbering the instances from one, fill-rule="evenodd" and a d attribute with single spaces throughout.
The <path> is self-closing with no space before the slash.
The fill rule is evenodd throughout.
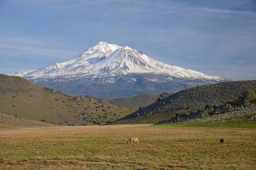
<path id="1" fill-rule="evenodd" d="M 176 92 L 228 81 L 153 60 L 141 51 L 99 42 L 80 55 L 45 68 L 10 73 L 73 95 L 111 99 L 141 93 Z"/>

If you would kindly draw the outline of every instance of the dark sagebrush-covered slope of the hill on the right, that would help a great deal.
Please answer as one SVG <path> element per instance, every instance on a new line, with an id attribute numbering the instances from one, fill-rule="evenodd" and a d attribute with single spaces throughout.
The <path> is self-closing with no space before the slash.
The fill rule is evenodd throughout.
<path id="1" fill-rule="evenodd" d="M 188 112 L 202 111 L 206 105 L 223 106 L 248 88 L 256 91 L 256 80 L 223 82 L 188 88 L 112 123 L 159 122 L 172 119 L 176 113 L 187 114 Z M 186 108 L 183 108 L 183 105 Z"/>

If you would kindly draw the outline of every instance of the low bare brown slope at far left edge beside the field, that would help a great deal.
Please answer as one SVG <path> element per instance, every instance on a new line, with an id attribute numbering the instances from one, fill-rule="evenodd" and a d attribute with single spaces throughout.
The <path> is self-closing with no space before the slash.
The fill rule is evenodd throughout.
<path id="1" fill-rule="evenodd" d="M 42 121 L 16 118 L 11 115 L 6 115 L 0 113 L 0 129 L 10 129 L 10 128 L 28 128 L 28 127 L 53 127 L 57 126 L 52 123 L 45 123 Z"/>

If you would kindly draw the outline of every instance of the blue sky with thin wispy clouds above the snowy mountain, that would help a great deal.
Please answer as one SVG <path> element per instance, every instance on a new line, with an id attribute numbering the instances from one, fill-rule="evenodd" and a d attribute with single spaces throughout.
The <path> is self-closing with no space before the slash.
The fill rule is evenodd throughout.
<path id="1" fill-rule="evenodd" d="M 256 0 L 0 0 L 0 73 L 62 62 L 99 41 L 256 79 Z"/>

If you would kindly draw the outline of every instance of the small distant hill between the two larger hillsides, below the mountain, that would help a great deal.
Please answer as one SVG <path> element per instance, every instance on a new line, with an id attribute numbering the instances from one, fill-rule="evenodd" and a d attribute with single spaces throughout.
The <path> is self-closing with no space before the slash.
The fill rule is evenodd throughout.
<path id="1" fill-rule="evenodd" d="M 163 93 L 163 94 L 144 93 L 144 94 L 139 94 L 132 97 L 111 99 L 111 100 L 107 100 L 107 102 L 114 104 L 118 107 L 138 109 L 140 107 L 146 107 L 149 104 L 156 102 L 158 98 L 163 99 L 165 97 L 170 96 L 171 94 L 172 93 Z"/>

